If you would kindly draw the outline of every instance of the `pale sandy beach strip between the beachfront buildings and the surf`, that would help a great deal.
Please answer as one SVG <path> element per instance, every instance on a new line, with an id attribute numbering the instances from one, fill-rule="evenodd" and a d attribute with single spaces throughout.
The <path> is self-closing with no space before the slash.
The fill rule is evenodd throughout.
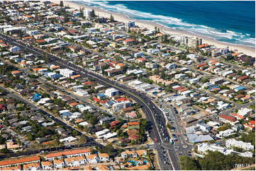
<path id="1" fill-rule="evenodd" d="M 60 1 L 52 1 L 56 4 L 60 4 Z M 79 9 L 80 7 L 85 8 L 85 9 L 94 9 L 95 13 L 97 16 L 102 16 L 106 18 L 110 18 L 111 14 L 113 15 L 113 18 L 115 20 L 121 21 L 121 22 L 127 22 L 129 20 L 135 20 L 135 24 L 140 26 L 141 28 L 148 28 L 149 30 L 155 30 L 155 27 L 160 28 L 160 31 L 165 34 L 169 35 L 187 35 L 187 36 L 196 36 L 200 37 L 203 40 L 203 43 L 208 43 L 209 45 L 215 45 L 216 47 L 229 47 L 230 50 L 233 51 L 238 51 L 238 52 L 243 52 L 244 54 L 250 55 L 252 57 L 255 57 L 255 47 L 248 47 L 245 45 L 235 45 L 235 44 L 230 44 L 226 42 L 219 42 L 217 40 L 214 40 L 210 37 L 206 37 L 203 35 L 196 35 L 193 33 L 189 33 L 187 31 L 182 31 L 182 30 L 174 30 L 172 28 L 167 28 L 163 25 L 160 25 L 158 23 L 152 23 L 148 22 L 145 20 L 136 20 L 133 18 L 129 18 L 128 16 L 125 16 L 120 13 L 113 13 L 110 11 L 105 11 L 100 8 L 95 8 L 91 6 L 85 6 L 84 4 L 80 4 L 78 2 L 73 2 L 73 1 L 63 1 L 63 4 L 65 6 L 69 6 L 72 8 L 77 8 Z"/>

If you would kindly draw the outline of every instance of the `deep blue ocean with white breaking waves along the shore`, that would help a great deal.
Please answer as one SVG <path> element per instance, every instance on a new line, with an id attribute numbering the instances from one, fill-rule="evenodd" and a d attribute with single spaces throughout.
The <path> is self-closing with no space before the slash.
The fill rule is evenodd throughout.
<path id="1" fill-rule="evenodd" d="M 87 6 L 255 47 L 255 1 L 83 1 Z"/>

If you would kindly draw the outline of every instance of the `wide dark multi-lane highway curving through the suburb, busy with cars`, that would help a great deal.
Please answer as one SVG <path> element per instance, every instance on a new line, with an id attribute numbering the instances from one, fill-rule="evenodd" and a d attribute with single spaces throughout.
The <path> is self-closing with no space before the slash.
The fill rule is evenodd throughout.
<path id="1" fill-rule="evenodd" d="M 81 76 L 92 78 L 98 83 L 101 83 L 104 86 L 112 86 L 117 90 L 121 91 L 128 95 L 128 97 L 133 98 L 138 104 L 142 106 L 143 112 L 150 122 L 152 129 L 149 131 L 150 137 L 156 143 L 156 150 L 158 152 L 158 160 L 160 163 L 160 167 L 162 170 L 180 170 L 179 160 L 177 158 L 177 154 L 172 145 L 170 145 L 169 141 L 165 141 L 165 139 L 169 139 L 169 135 L 167 131 L 163 132 L 161 129 L 167 130 L 165 126 L 165 117 L 163 117 L 162 112 L 158 109 L 158 107 L 148 98 L 147 95 L 143 93 L 138 93 L 136 90 L 128 88 L 124 85 L 116 83 L 115 81 L 111 81 L 108 78 L 104 78 L 99 76 L 96 73 L 91 73 L 85 69 L 80 68 L 74 64 L 71 64 L 65 60 L 62 60 L 58 57 L 55 57 L 52 54 L 48 54 L 41 49 L 37 49 L 30 45 L 26 45 L 23 42 L 17 42 L 15 39 L 8 37 L 6 35 L 0 34 L 1 38 L 4 39 L 7 43 L 11 45 L 19 46 L 23 49 L 26 49 L 28 52 L 37 54 L 39 57 L 50 57 L 50 62 L 52 64 L 56 64 L 62 66 L 63 68 L 72 69 L 76 71 Z M 166 151 L 163 153 L 163 151 Z"/>

